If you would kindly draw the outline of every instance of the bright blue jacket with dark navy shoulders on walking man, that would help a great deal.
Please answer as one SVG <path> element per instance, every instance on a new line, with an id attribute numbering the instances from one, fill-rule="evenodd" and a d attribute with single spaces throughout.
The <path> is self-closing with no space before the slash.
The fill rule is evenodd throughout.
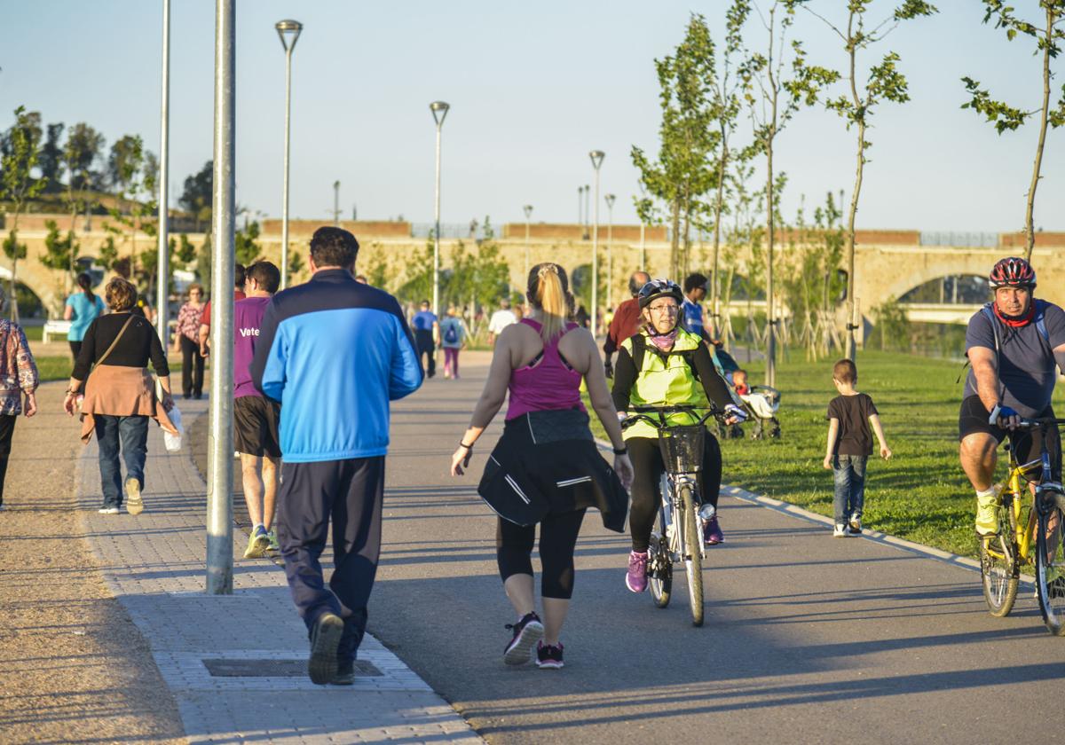
<path id="1" fill-rule="evenodd" d="M 288 463 L 386 454 L 389 401 L 422 384 L 399 303 L 346 269 L 320 270 L 274 296 L 250 370 L 281 402 Z"/>

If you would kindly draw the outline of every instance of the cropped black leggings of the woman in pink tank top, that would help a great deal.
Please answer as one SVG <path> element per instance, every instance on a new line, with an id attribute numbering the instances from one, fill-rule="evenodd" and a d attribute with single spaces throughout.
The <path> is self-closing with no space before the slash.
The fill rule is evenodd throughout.
<path id="1" fill-rule="evenodd" d="M 573 548 L 577 545 L 585 510 L 562 515 L 547 515 L 540 522 L 540 594 L 569 600 L 573 597 Z M 499 577 L 506 582 L 513 575 L 532 575 L 532 543 L 536 526 L 514 525 L 502 517 L 495 529 L 495 559 Z"/>

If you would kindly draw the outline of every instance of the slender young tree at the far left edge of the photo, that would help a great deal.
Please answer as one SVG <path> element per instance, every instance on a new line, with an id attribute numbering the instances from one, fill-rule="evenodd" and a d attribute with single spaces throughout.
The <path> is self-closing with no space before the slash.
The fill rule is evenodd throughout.
<path id="1" fill-rule="evenodd" d="M 23 106 L 15 110 L 15 123 L 4 136 L 4 152 L 0 156 L 0 186 L 2 196 L 11 202 L 12 221 L 3 251 L 11 260 L 11 319 L 18 321 L 18 260 L 26 258 L 26 246 L 18 243 L 18 215 L 26 202 L 40 194 L 47 181 L 34 179 L 30 171 L 37 166 L 40 154 L 40 114 L 27 113 Z"/>

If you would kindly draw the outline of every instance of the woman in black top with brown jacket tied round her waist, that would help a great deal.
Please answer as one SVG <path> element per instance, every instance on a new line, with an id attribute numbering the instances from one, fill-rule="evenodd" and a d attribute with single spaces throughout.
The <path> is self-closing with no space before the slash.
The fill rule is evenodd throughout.
<path id="1" fill-rule="evenodd" d="M 178 433 L 166 416 L 174 405 L 170 368 L 155 329 L 144 316 L 133 313 L 136 287 L 115 277 L 108 282 L 104 297 L 111 313 L 98 317 L 85 331 L 63 409 L 73 416 L 78 392 L 84 383 L 81 438 L 87 444 L 95 432 L 100 448 L 100 514 L 116 515 L 122 504 L 120 453 L 126 461 L 126 509 L 138 515 L 144 511 L 148 419 L 154 418 L 166 431 Z M 155 385 L 147 368 L 149 360 L 163 390 L 162 402 L 155 399 Z"/>

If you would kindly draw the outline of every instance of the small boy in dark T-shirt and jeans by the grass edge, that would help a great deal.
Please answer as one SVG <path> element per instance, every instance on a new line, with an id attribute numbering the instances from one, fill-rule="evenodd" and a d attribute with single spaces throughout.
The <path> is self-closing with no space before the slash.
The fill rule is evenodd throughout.
<path id="1" fill-rule="evenodd" d="M 857 367 L 851 360 L 840 360 L 832 368 L 832 382 L 839 395 L 829 402 L 829 444 L 824 467 L 832 470 L 832 500 L 835 537 L 859 535 L 865 508 L 866 463 L 872 454 L 872 431 L 880 442 L 880 457 L 887 460 L 891 448 L 884 438 L 884 429 L 872 399 L 854 387 L 858 382 Z"/>

